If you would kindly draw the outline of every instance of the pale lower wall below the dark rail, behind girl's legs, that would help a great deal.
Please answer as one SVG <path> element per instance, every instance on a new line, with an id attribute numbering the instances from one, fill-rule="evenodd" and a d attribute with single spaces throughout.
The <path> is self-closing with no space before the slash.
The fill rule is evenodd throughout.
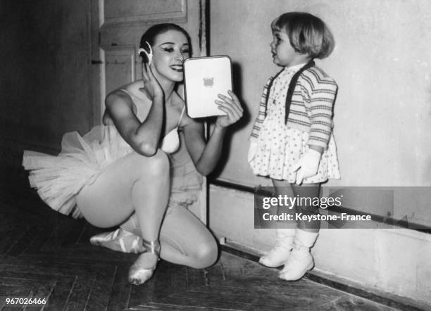
<path id="1" fill-rule="evenodd" d="M 210 185 L 209 201 L 209 227 L 216 236 L 251 248 L 254 254 L 273 247 L 275 230 L 254 229 L 252 193 Z M 431 310 L 430 234 L 409 229 L 323 229 L 312 253 L 316 272 Z"/>

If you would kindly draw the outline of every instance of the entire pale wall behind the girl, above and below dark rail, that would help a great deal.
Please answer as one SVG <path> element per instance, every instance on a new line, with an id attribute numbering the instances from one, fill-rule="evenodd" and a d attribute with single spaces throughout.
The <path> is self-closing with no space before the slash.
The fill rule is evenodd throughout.
<path id="1" fill-rule="evenodd" d="M 332 55 L 318 61 L 339 84 L 334 133 L 342 179 L 327 185 L 431 186 L 431 3 L 425 0 L 211 1 L 210 54 L 231 56 L 235 92 L 248 111 L 232 135 L 230 153 L 215 177 L 246 186 L 270 185 L 268 179 L 251 174 L 246 163 L 247 139 L 263 84 L 279 70 L 270 54 L 270 23 L 287 11 L 320 16 L 337 42 Z M 413 198 L 413 193 L 410 195 Z M 425 189 L 420 195 L 415 202 L 404 198 L 398 212 L 430 226 L 431 191 Z M 365 209 L 360 200 L 351 205 Z M 212 186 L 211 227 L 257 251 L 268 250 L 273 232 L 252 229 L 252 206 L 252 195 Z M 387 208 L 376 205 L 372 211 L 386 215 Z M 425 279 L 420 277 L 431 273 L 429 265 L 421 264 L 421 258 L 430 254 L 429 235 L 413 232 L 412 237 L 412 231 L 402 229 L 397 234 L 377 229 L 360 232 L 324 231 L 315 248 L 318 269 L 402 296 L 430 299 L 430 287 L 423 286 Z M 350 243 L 346 243 L 346 236 Z M 334 246 L 337 243 L 339 248 Z M 406 256 L 403 243 L 408 243 L 413 248 L 410 254 L 415 255 Z M 394 249 L 389 250 L 391 245 Z M 366 252 L 369 255 L 361 255 Z M 348 261 L 338 265 L 344 254 L 363 258 L 358 266 L 361 269 Z M 399 262 L 389 260 L 389 255 Z M 366 266 L 370 268 L 362 269 Z M 410 268 L 415 269 L 413 274 L 396 272 Z M 394 286 L 402 278 L 406 282 Z"/>

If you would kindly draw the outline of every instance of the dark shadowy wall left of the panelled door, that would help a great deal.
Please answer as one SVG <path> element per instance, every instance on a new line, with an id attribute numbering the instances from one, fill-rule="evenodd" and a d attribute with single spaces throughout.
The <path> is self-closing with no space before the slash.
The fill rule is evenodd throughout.
<path id="1" fill-rule="evenodd" d="M 1 187 L 23 177 L 24 148 L 56 152 L 92 125 L 89 1 L 1 1 Z"/>

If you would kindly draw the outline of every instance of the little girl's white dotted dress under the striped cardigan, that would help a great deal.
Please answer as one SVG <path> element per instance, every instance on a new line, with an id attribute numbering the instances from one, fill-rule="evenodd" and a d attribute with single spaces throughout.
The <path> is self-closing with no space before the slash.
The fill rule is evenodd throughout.
<path id="1" fill-rule="evenodd" d="M 289 82 L 303 66 L 304 64 L 300 64 L 282 70 L 268 90 L 270 93 L 266 118 L 256 141 L 258 146 L 256 156 L 251 162 L 254 174 L 285 180 L 292 184 L 296 182 L 296 172 L 292 168 L 308 150 L 308 132 L 286 125 L 285 101 Z M 303 183 L 314 184 L 339 178 L 337 147 L 331 134 L 327 149 L 320 159 L 318 173 L 305 178 Z"/>

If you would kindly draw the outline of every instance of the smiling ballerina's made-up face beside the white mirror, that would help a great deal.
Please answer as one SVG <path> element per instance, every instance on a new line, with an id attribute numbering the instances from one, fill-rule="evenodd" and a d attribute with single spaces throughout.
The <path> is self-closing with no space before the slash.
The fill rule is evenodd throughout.
<path id="1" fill-rule="evenodd" d="M 152 65 L 156 68 L 156 77 L 181 82 L 184 78 L 185 59 L 189 58 L 189 42 L 180 31 L 168 30 L 158 34 L 152 46 Z"/>

